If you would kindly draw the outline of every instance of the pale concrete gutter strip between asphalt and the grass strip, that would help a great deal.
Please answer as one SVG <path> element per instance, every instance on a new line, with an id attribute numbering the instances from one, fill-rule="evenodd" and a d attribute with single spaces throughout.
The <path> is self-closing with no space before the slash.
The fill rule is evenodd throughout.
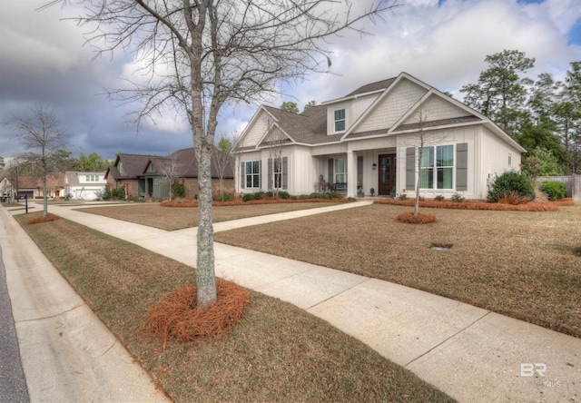
<path id="1" fill-rule="evenodd" d="M 0 224 L 30 401 L 169 401 L 4 208 Z"/>

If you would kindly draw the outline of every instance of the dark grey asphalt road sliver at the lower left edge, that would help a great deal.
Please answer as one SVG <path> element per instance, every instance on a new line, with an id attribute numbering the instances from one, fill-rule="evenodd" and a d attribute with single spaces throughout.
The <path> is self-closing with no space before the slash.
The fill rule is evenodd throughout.
<path id="1" fill-rule="evenodd" d="M 0 248 L 0 403 L 28 402 L 25 373 L 20 364 L 15 321 L 6 288 L 6 271 Z"/>

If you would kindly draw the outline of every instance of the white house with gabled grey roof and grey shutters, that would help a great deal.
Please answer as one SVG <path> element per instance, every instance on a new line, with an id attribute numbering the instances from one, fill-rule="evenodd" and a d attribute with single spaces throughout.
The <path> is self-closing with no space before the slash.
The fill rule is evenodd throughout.
<path id="1" fill-rule="evenodd" d="M 329 189 L 355 196 L 420 194 L 484 199 L 489 182 L 518 170 L 525 149 L 486 116 L 401 73 L 340 99 L 288 113 L 261 106 L 233 152 L 236 192 Z"/>

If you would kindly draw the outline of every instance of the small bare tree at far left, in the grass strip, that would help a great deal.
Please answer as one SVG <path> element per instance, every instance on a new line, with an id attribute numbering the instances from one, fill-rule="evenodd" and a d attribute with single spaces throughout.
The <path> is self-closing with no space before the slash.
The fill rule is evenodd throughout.
<path id="1" fill-rule="evenodd" d="M 54 116 L 54 110 L 38 103 L 31 113 L 23 117 L 15 117 L 9 123 L 16 139 L 25 147 L 25 152 L 16 158 L 28 162 L 33 168 L 33 174 L 43 181 L 43 217 L 48 214 L 47 178 L 58 171 L 54 156 L 64 146 L 67 135 L 59 127 L 60 123 Z"/>

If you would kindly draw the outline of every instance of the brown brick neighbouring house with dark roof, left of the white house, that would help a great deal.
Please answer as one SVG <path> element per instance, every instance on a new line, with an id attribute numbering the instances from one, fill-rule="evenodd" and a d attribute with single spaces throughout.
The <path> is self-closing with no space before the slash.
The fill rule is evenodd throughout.
<path id="1" fill-rule="evenodd" d="M 215 193 L 234 191 L 231 163 L 222 152 L 212 158 L 225 162 L 212 163 L 212 188 Z M 222 172 L 219 167 L 223 167 Z M 165 199 L 169 196 L 171 182 L 182 183 L 183 197 L 192 199 L 198 193 L 198 165 L 193 148 L 186 148 L 159 157 L 151 155 L 119 154 L 105 172 L 110 189 L 123 187 L 128 197 L 149 196 Z"/>

